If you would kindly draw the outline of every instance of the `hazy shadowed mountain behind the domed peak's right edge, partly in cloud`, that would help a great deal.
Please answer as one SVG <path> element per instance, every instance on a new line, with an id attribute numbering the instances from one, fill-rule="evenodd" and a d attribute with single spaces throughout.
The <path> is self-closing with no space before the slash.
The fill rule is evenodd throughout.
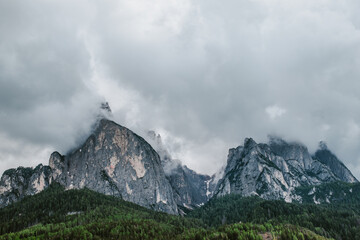
<path id="1" fill-rule="evenodd" d="M 204 204 L 210 199 L 211 177 L 196 173 L 179 160 L 173 159 L 160 134 L 148 132 L 149 142 L 159 153 L 165 174 L 173 189 L 174 199 L 182 211 Z M 184 214 L 184 212 L 181 212 Z"/>

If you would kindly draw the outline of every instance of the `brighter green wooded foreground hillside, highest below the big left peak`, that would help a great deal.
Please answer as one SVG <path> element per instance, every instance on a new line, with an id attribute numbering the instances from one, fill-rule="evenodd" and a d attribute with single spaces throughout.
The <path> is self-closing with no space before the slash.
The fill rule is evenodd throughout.
<path id="1" fill-rule="evenodd" d="M 0 239 L 326 239 L 289 224 L 210 227 L 113 196 L 59 184 L 0 209 Z"/>

